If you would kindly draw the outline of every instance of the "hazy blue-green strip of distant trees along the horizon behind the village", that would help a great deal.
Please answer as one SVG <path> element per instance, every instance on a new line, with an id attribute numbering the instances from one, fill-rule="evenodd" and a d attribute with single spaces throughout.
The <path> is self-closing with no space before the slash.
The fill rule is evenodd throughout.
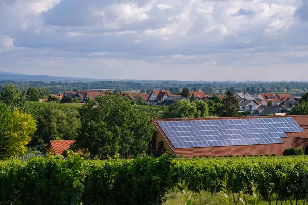
<path id="1" fill-rule="evenodd" d="M 142 90 L 150 93 L 152 90 L 165 89 L 170 90 L 172 94 L 178 94 L 183 87 L 190 90 L 203 90 L 206 94 L 224 94 L 226 91 L 232 92 L 249 92 L 256 94 L 260 92 L 281 92 L 302 94 L 307 92 L 308 82 L 185 82 L 185 81 L 92 81 L 92 82 L 64 82 L 64 81 L 0 81 L 1 88 L 8 84 L 14 83 L 20 89 L 27 90 L 29 87 L 49 88 L 51 93 L 77 90 L 115 90 L 117 92 Z"/>

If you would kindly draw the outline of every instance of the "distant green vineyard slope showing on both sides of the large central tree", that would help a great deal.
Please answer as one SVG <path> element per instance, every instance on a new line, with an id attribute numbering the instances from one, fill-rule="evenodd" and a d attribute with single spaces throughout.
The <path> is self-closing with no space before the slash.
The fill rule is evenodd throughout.
<path id="1" fill-rule="evenodd" d="M 62 111 L 77 110 L 83 104 L 82 103 L 38 103 L 38 102 L 27 102 L 24 111 L 27 114 L 31 114 L 35 119 L 38 118 L 42 108 L 47 108 L 48 106 L 55 106 L 57 109 Z M 148 106 L 148 105 L 132 105 L 133 111 L 137 115 L 146 114 L 150 119 L 160 119 L 163 116 L 164 106 Z"/>

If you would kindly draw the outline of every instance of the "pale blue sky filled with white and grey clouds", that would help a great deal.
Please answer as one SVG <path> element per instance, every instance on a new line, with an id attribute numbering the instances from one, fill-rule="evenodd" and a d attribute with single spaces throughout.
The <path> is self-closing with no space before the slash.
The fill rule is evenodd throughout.
<path id="1" fill-rule="evenodd" d="M 0 71 L 308 81 L 308 0 L 1 0 Z"/>

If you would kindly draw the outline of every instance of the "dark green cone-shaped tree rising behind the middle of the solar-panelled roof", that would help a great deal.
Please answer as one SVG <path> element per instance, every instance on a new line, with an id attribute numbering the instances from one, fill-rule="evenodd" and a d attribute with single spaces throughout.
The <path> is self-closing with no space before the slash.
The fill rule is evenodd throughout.
<path id="1" fill-rule="evenodd" d="M 238 115 L 239 103 L 232 91 L 228 91 L 226 97 L 222 101 L 219 117 L 235 117 Z"/>

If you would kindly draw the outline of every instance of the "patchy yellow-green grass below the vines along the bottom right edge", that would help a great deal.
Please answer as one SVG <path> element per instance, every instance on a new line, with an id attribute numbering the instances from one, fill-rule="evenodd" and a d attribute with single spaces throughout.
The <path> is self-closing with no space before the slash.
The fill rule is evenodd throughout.
<path id="1" fill-rule="evenodd" d="M 194 192 L 191 192 L 189 191 L 188 192 L 188 196 L 191 194 L 191 198 L 194 200 L 194 201 L 200 201 L 202 202 L 202 204 L 206 204 L 206 205 L 216 205 L 216 204 L 227 204 L 225 202 L 225 199 L 224 199 L 224 193 L 223 192 L 218 192 L 218 193 L 213 193 L 211 194 L 210 192 L 206 192 L 206 191 L 201 191 L 200 193 L 194 193 Z M 188 197 L 186 195 L 186 197 Z M 184 200 L 181 198 L 182 196 L 185 196 L 183 194 L 183 192 L 180 192 L 179 190 L 178 191 L 170 191 L 168 192 L 164 199 L 166 200 L 163 204 L 165 205 L 178 205 L 178 204 L 185 204 Z M 236 199 L 237 199 L 237 196 L 236 195 Z M 248 204 L 253 204 L 253 196 L 251 195 L 246 195 L 247 197 L 247 202 Z M 197 203 L 193 203 L 193 204 L 197 204 Z M 242 204 L 240 201 L 237 203 L 237 204 Z M 271 198 L 271 205 L 275 205 L 276 204 L 276 196 L 275 194 L 273 195 L 273 197 Z M 281 201 L 278 202 L 278 204 L 280 205 L 281 204 Z M 290 201 L 284 201 L 283 202 L 283 205 L 292 205 L 292 204 L 296 204 L 295 200 L 292 200 L 292 203 Z M 300 200 L 297 202 L 298 205 L 303 205 L 303 200 Z M 306 203 L 307 204 L 307 203 Z M 268 201 L 260 201 L 259 205 L 269 205 Z"/>

